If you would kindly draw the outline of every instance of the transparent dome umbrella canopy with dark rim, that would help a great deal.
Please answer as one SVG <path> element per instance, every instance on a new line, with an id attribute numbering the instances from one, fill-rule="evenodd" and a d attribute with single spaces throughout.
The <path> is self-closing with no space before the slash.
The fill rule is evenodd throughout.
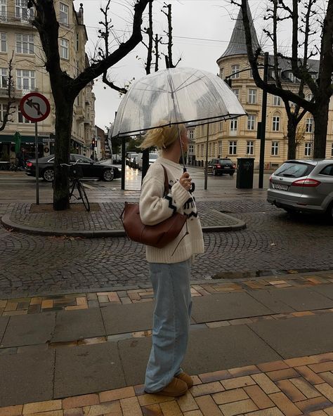
<path id="1" fill-rule="evenodd" d="M 119 105 L 112 136 L 129 136 L 167 124 L 219 122 L 246 112 L 217 75 L 194 68 L 170 68 L 136 81 Z"/>

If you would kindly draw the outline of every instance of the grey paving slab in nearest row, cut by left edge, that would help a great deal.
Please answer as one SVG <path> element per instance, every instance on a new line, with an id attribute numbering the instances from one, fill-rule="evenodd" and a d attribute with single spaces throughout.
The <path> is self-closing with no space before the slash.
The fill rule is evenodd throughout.
<path id="1" fill-rule="evenodd" d="M 0 406 L 53 397 L 54 351 L 0 356 Z"/>

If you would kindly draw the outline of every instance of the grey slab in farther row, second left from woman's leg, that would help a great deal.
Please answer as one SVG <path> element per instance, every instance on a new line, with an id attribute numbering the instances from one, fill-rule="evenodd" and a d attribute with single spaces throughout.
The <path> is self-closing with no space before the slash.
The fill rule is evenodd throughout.
<path id="1" fill-rule="evenodd" d="M 105 335 L 105 328 L 100 308 L 84 311 L 60 311 L 55 318 L 55 329 L 51 342 L 65 342 L 103 335 Z"/>

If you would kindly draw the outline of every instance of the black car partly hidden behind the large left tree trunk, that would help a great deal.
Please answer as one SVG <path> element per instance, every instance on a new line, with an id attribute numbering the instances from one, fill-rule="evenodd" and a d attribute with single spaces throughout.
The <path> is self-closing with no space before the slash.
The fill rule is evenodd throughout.
<path id="1" fill-rule="evenodd" d="M 53 162 L 54 155 L 40 157 L 38 160 L 39 177 L 43 178 L 44 181 L 53 181 Z M 70 163 L 75 162 L 77 162 L 77 166 L 81 167 L 84 178 L 98 178 L 109 182 L 122 176 L 119 167 L 103 162 L 94 162 L 86 156 L 70 155 Z M 25 164 L 25 173 L 27 175 L 36 176 L 36 160 L 27 160 L 27 163 Z"/>

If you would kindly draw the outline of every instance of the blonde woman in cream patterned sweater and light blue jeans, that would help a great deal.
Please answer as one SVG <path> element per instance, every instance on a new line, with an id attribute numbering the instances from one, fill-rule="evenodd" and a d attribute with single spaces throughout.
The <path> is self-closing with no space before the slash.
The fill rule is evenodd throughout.
<path id="1" fill-rule="evenodd" d="M 161 124 L 166 124 L 161 120 Z M 140 197 L 141 221 L 153 226 L 174 212 L 188 217 L 181 233 L 166 247 L 146 247 L 150 279 L 155 295 L 152 349 L 145 373 L 145 391 L 164 396 L 181 396 L 193 385 L 192 377 L 181 369 L 190 329 L 190 264 L 193 254 L 204 252 L 202 228 L 188 172 L 179 165 L 182 148 L 188 148 L 185 126 L 152 129 L 141 147 L 162 151 L 143 180 Z M 162 165 L 162 166 L 161 166 Z M 169 193 L 164 195 L 164 169 Z"/>

